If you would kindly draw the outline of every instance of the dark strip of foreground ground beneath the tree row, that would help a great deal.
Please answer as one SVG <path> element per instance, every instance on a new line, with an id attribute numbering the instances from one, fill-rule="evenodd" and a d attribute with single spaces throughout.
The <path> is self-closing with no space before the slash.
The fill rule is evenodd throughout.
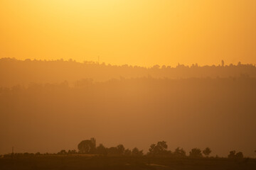
<path id="1" fill-rule="evenodd" d="M 0 169 L 256 169 L 256 159 L 39 156 L 0 158 Z"/>

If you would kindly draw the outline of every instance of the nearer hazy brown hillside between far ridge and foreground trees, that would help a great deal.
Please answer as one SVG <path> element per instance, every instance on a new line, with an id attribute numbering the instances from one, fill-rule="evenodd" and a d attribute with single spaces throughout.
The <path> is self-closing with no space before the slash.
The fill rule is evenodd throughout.
<path id="1" fill-rule="evenodd" d="M 132 70 L 132 69 L 131 69 Z M 145 69 L 146 70 L 146 69 Z M 147 152 L 159 140 L 170 149 L 237 149 L 255 156 L 256 78 L 111 79 L 74 86 L 0 88 L 0 154 L 76 149 L 96 137 Z"/>

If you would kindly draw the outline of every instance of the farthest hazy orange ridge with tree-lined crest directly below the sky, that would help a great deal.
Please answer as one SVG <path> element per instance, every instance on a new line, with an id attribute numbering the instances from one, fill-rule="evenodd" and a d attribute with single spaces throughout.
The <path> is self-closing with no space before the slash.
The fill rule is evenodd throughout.
<path id="1" fill-rule="evenodd" d="M 54 84 L 68 81 L 70 85 L 82 79 L 107 81 L 110 79 L 131 79 L 152 77 L 155 79 L 187 79 L 187 78 L 227 78 L 256 77 L 255 64 L 229 64 L 203 66 L 198 64 L 176 67 L 159 66 L 145 68 L 137 66 L 116 66 L 97 62 L 75 62 L 74 60 L 16 60 L 0 59 L 0 86 L 10 87 L 17 84 L 28 86 L 31 83 Z"/>

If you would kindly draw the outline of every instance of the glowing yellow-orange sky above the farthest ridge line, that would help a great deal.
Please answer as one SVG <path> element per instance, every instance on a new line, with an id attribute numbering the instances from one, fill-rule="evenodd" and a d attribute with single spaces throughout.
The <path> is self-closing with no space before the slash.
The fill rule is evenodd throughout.
<path id="1" fill-rule="evenodd" d="M 255 0 L 1 0 L 0 57 L 256 63 Z"/>

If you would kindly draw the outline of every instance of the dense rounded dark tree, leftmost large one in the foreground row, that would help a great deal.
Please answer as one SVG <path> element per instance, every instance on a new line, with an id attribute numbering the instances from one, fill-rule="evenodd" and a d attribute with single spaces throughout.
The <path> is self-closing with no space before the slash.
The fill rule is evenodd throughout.
<path id="1" fill-rule="evenodd" d="M 78 144 L 78 151 L 82 154 L 95 154 L 96 151 L 96 140 L 91 138 L 90 140 L 82 140 Z"/>

